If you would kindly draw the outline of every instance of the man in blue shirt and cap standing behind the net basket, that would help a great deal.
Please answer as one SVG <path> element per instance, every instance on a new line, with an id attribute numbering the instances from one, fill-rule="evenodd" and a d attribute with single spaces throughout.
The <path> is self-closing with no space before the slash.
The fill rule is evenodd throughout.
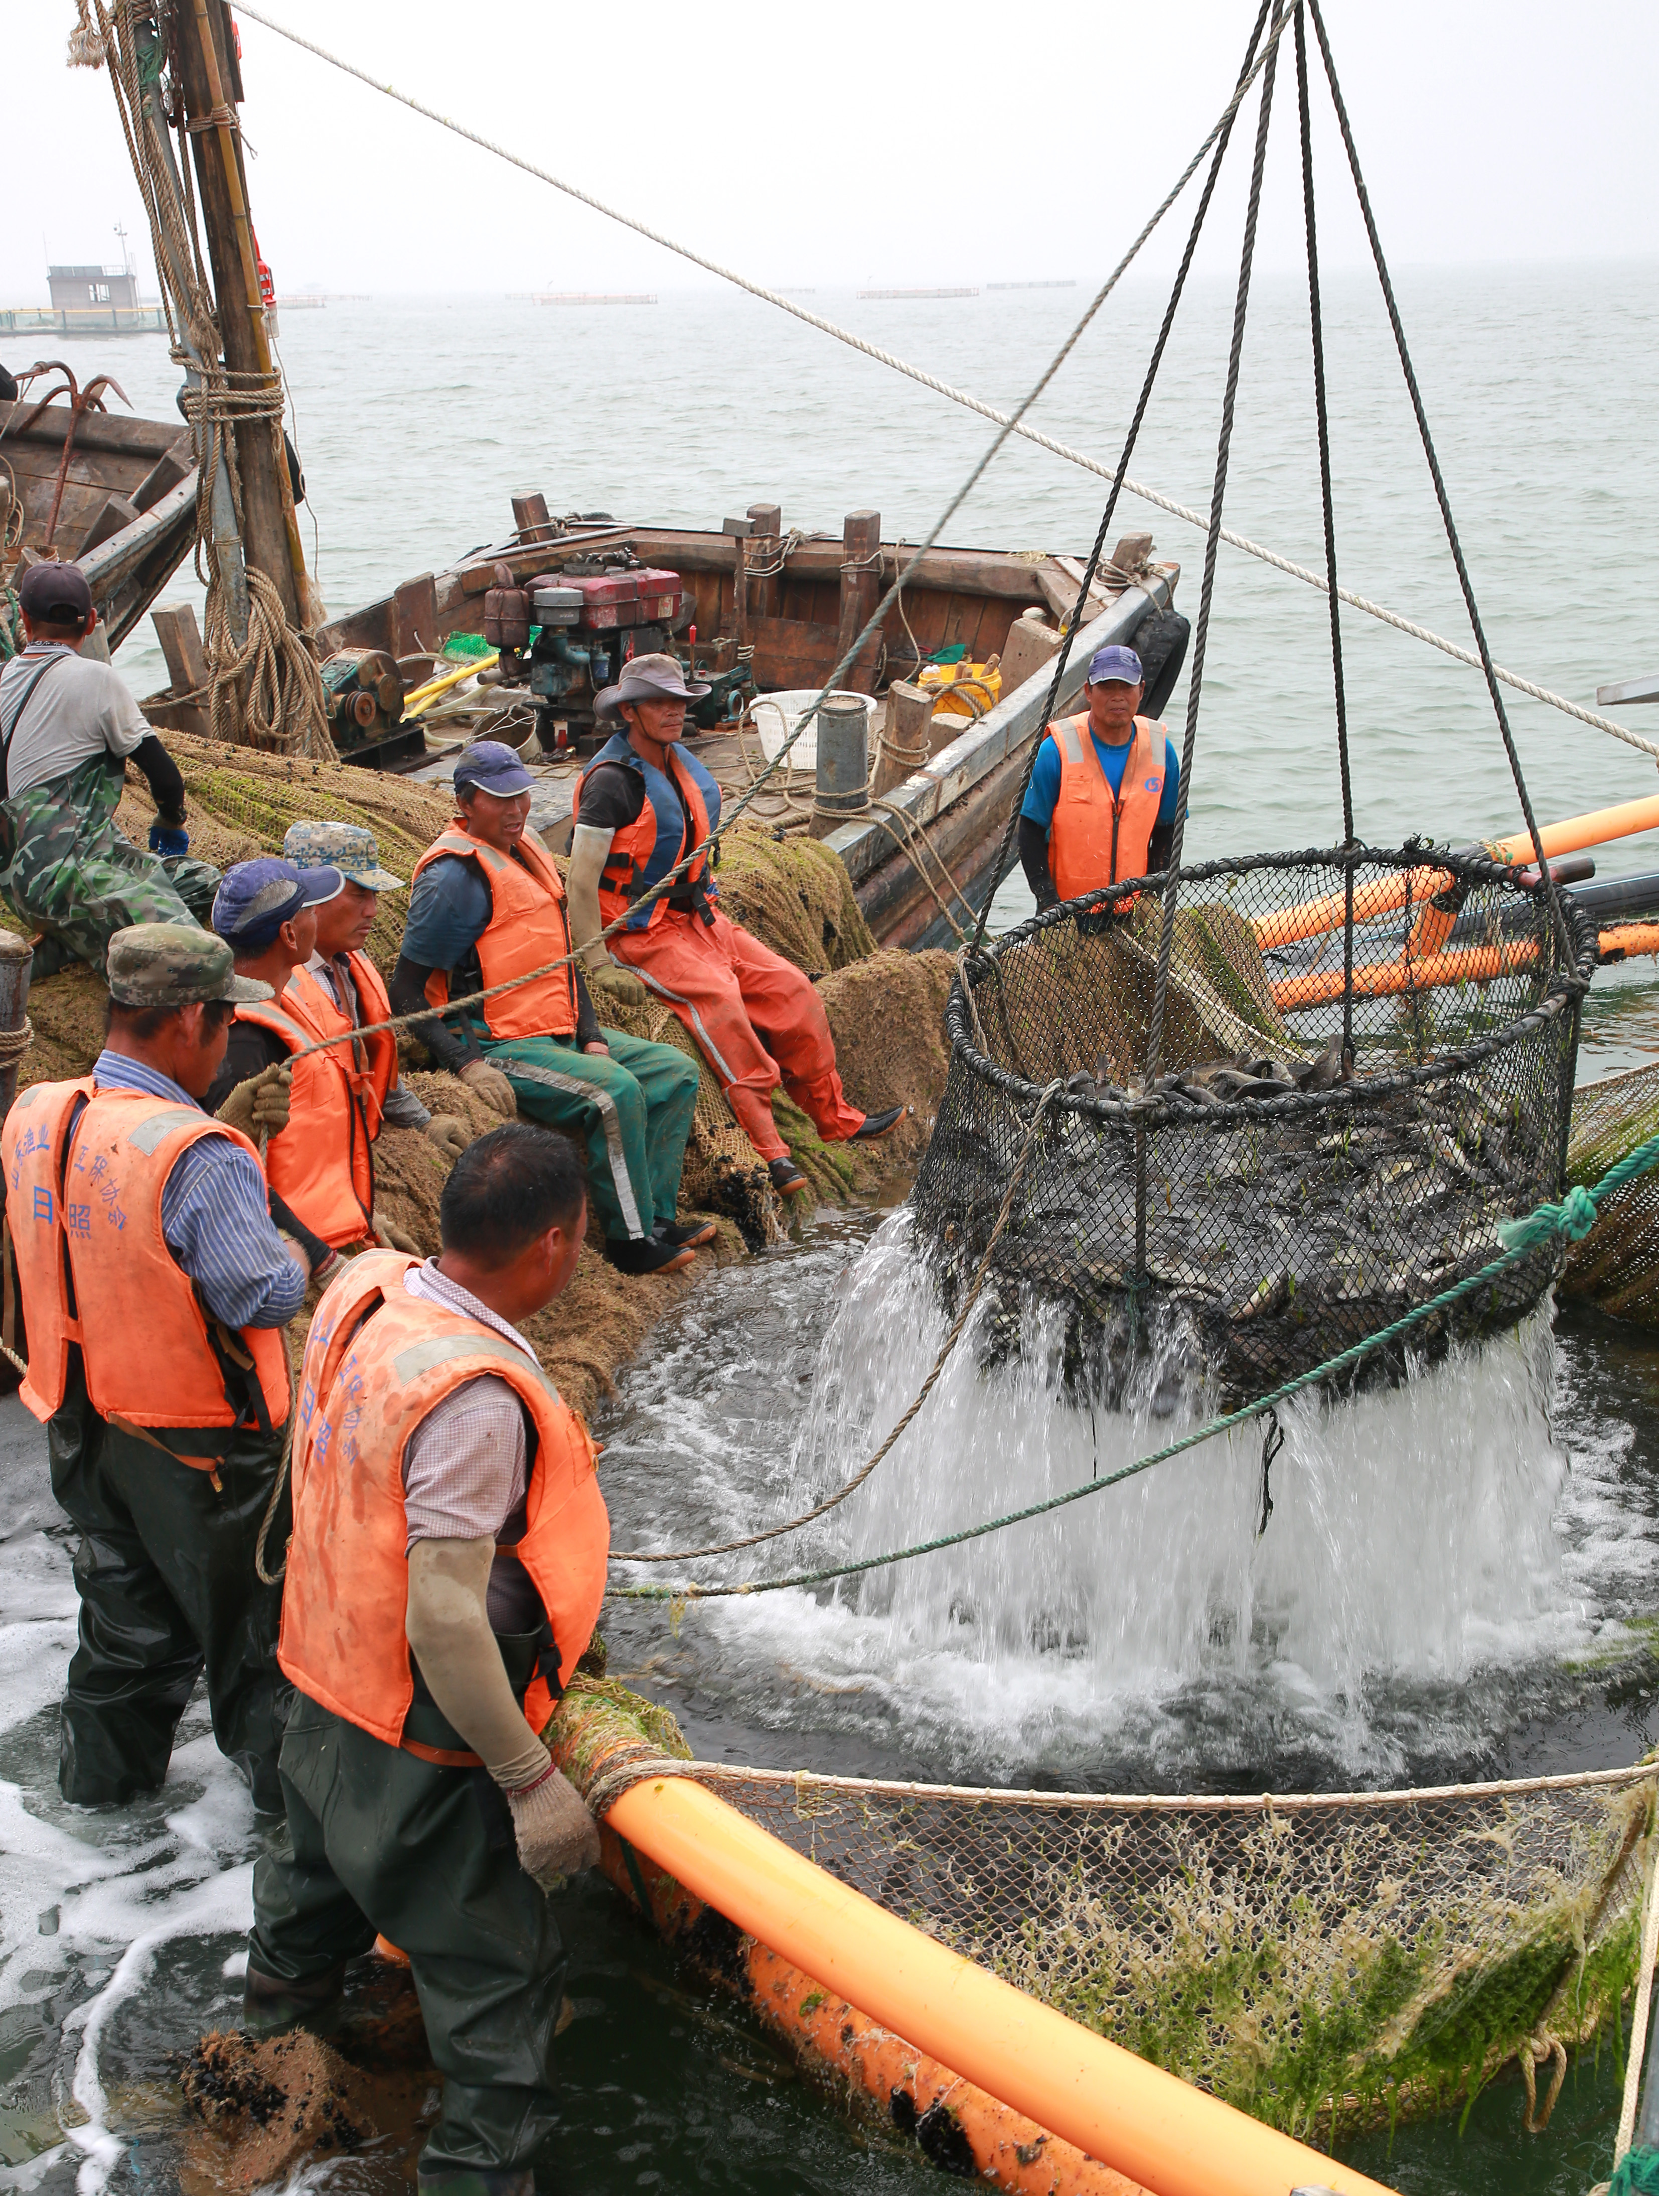
<path id="1" fill-rule="evenodd" d="M 1038 914 L 1170 861 L 1181 758 L 1165 727 L 1137 714 L 1143 696 L 1135 650 L 1097 648 L 1088 707 L 1049 725 L 1038 747 L 1020 804 L 1020 867 Z"/>

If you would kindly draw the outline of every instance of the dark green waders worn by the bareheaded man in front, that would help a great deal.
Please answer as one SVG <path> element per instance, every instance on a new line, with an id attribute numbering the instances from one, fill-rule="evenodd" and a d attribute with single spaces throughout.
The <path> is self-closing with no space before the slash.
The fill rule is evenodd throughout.
<path id="1" fill-rule="evenodd" d="M 406 1735 L 463 1744 L 430 1704 L 410 1708 Z M 287 1829 L 255 1864 L 248 2003 L 281 2001 L 283 1983 L 318 2003 L 316 1985 L 380 1930 L 408 1952 L 443 2075 L 421 2174 L 527 2170 L 557 2117 L 566 1954 L 500 1792 L 483 1770 L 437 1768 L 296 1693 L 283 1799 Z"/>

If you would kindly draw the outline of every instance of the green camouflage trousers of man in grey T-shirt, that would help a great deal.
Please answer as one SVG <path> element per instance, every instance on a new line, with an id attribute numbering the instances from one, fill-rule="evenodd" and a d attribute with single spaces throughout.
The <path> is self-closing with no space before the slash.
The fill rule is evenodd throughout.
<path id="1" fill-rule="evenodd" d="M 219 872 L 213 863 L 140 852 L 114 813 L 123 777 L 97 755 L 68 777 L 0 802 L 0 892 L 18 914 L 75 960 L 103 968 L 129 922 L 208 927 Z"/>

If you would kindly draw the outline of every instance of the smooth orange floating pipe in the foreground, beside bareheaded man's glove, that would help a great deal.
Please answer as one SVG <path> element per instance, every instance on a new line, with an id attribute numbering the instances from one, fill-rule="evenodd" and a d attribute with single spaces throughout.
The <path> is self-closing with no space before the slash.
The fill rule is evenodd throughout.
<path id="1" fill-rule="evenodd" d="M 1066 2020 L 876 1906 L 689 1777 L 608 1825 L 821 1990 L 1152 2196 L 1385 2196 L 1378 2181 Z"/>

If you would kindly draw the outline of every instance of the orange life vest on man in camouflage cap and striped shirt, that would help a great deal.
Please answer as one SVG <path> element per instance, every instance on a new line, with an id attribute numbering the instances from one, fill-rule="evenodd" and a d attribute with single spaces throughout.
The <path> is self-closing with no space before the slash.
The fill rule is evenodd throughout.
<path id="1" fill-rule="evenodd" d="M 173 1258 L 160 1201 L 178 1159 L 204 1135 L 237 1129 L 143 1091 L 99 1091 L 90 1078 L 37 1083 L 18 1096 L 0 1138 L 7 1214 L 29 1326 L 22 1399 L 50 1419 L 79 1344 L 86 1392 L 103 1419 L 193 1434 L 180 1463 L 213 1469 L 211 1427 L 287 1419 L 281 1329 L 230 1335 L 208 1320 Z M 206 1436 L 206 1438 L 202 1438 Z"/>

